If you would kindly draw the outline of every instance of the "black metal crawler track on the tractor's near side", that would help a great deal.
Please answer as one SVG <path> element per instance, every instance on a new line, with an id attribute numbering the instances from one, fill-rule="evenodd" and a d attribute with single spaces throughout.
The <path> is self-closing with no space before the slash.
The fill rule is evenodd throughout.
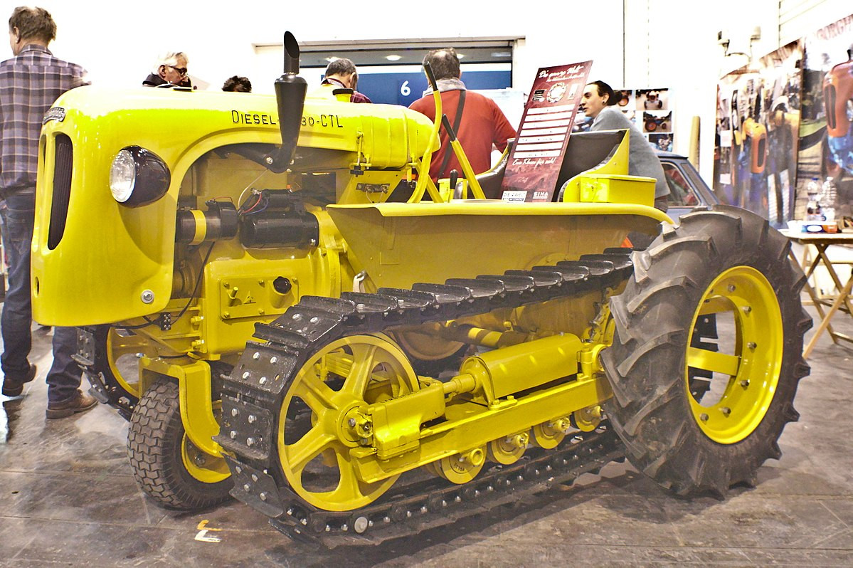
<path id="1" fill-rule="evenodd" d="M 611 248 L 576 261 L 508 270 L 503 275 L 453 278 L 444 284 L 416 283 L 411 289 L 380 288 L 377 293 L 342 293 L 340 298 L 304 296 L 275 322 L 256 324 L 254 336 L 264 343 L 249 341 L 234 371 L 222 375 L 223 419 L 215 439 L 234 455 L 226 455 L 235 480 L 231 495 L 266 514 L 271 525 L 291 536 L 315 536 L 327 544 L 334 543 L 335 536 L 381 542 L 422 530 L 421 517 L 439 508 L 442 513 L 432 515 L 432 525 L 502 503 L 477 499 L 480 495 L 497 489 L 507 493 L 506 488 L 508 499 L 516 499 L 525 488 L 541 490 L 543 482 L 562 483 L 618 459 L 623 451 L 605 426 L 578 435 L 574 444 L 564 443 L 566 449 L 529 451 L 518 463 L 484 470 L 464 485 L 438 478 L 404 484 L 404 476 L 370 506 L 332 513 L 306 503 L 284 482 L 276 461 L 276 416 L 294 375 L 323 345 L 354 334 L 446 322 L 615 288 L 633 272 L 630 252 Z M 450 514 L 450 503 L 471 507 L 451 505 Z M 415 522 L 412 519 L 416 526 L 409 526 Z"/>

